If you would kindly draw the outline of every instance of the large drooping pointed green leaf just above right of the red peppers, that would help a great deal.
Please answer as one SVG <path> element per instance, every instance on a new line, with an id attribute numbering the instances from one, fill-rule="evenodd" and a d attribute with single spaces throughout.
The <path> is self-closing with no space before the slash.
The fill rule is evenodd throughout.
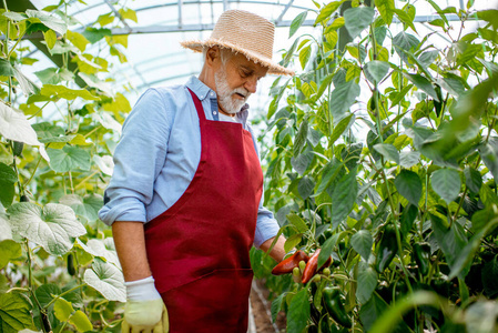
<path id="1" fill-rule="evenodd" d="M 337 183 L 334 193 L 332 193 L 333 215 L 332 229 L 336 229 L 353 210 L 358 193 L 358 183 L 356 182 L 356 169 L 345 174 Z"/>

